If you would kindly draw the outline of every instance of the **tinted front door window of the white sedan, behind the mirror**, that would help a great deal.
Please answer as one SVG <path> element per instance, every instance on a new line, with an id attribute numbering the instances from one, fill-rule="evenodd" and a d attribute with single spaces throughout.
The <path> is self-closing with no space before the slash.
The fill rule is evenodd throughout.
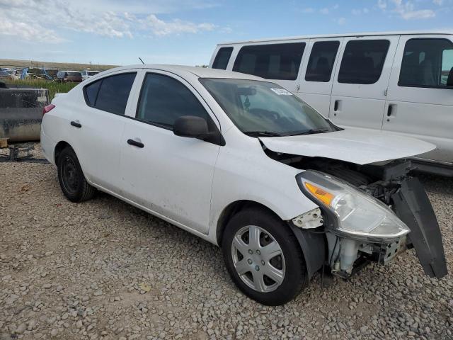
<path id="1" fill-rule="evenodd" d="M 180 81 L 162 74 L 147 74 L 137 107 L 137 118 L 173 129 L 173 123 L 182 115 L 195 115 L 208 120 L 200 101 Z"/>

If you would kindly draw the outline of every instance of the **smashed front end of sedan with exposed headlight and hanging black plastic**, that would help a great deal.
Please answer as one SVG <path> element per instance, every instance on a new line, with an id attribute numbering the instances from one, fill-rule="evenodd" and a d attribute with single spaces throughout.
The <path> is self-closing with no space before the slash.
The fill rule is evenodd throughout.
<path id="1" fill-rule="evenodd" d="M 326 232 L 326 263 L 332 273 L 346 278 L 370 261 L 386 264 L 414 248 L 428 276 L 447 275 L 440 227 L 420 181 L 408 176 L 410 162 L 360 169 L 329 162 L 319 169 L 311 164 L 297 176 L 299 187 L 319 205 L 321 215 L 316 211 L 292 222 Z"/>

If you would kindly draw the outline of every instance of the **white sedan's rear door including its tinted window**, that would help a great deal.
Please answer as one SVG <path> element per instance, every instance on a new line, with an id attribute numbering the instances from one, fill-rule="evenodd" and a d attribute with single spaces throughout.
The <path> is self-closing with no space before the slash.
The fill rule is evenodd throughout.
<path id="1" fill-rule="evenodd" d="M 86 103 L 74 108 L 74 149 L 88 180 L 120 193 L 120 138 L 137 71 L 117 73 L 84 87 Z M 82 99 L 83 100 L 83 99 Z"/>

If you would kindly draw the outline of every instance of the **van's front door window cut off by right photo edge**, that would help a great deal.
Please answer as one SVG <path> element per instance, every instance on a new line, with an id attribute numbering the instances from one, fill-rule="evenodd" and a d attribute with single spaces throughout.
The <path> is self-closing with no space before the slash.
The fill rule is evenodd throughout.
<path id="1" fill-rule="evenodd" d="M 398 86 L 453 86 L 453 43 L 434 38 L 408 40 Z"/>

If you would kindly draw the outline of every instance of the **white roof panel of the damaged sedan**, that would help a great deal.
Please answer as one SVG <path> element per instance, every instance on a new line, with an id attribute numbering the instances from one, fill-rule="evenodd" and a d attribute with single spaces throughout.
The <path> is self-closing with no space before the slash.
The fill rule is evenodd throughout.
<path id="1" fill-rule="evenodd" d="M 263 78 L 243 74 L 239 72 L 225 71 L 224 69 L 211 69 L 207 67 L 195 67 L 184 65 L 166 65 L 166 64 L 137 64 L 130 66 L 116 67 L 109 69 L 110 72 L 122 71 L 127 69 L 156 69 L 171 72 L 183 76 L 183 74 L 194 74 L 199 78 L 228 78 L 228 79 L 250 79 L 264 80 Z"/>

